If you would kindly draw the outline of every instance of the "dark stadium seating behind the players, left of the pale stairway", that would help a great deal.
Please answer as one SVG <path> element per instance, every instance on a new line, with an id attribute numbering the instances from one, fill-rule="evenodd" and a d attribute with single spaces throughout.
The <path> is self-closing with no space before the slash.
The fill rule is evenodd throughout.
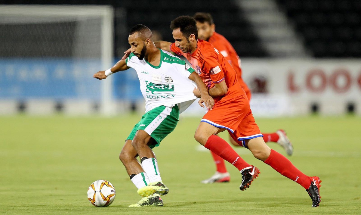
<path id="1" fill-rule="evenodd" d="M 127 29 L 139 24 L 139 20 L 143 20 L 142 24 L 148 26 L 152 30 L 157 30 L 161 33 L 164 40 L 173 41 L 169 24 L 171 20 L 178 16 L 189 15 L 193 16 L 196 12 L 209 12 L 216 23 L 216 30 L 218 33 L 226 36 L 231 42 L 240 57 L 268 57 L 269 54 L 265 51 L 259 38 L 252 30 L 251 25 L 243 16 L 242 11 L 239 10 L 232 0 L 199 0 L 199 1 L 173 1 L 172 6 L 167 1 L 161 0 L 139 0 L 134 5 L 132 1 L 110 1 L 110 0 L 3 0 L 2 4 L 107 4 L 112 5 L 117 14 L 117 10 L 124 8 L 126 11 L 126 25 Z M 191 7 L 189 5 L 192 5 Z M 169 8 L 171 7 L 171 10 Z M 194 9 L 196 8 L 196 9 Z M 203 11 L 200 11 L 202 8 Z M 127 40 L 124 37 L 124 32 L 117 31 L 120 23 L 124 22 L 122 17 L 115 17 L 115 50 L 114 56 L 121 57 L 124 48 L 127 47 Z M 35 47 L 34 47 L 35 48 Z"/>

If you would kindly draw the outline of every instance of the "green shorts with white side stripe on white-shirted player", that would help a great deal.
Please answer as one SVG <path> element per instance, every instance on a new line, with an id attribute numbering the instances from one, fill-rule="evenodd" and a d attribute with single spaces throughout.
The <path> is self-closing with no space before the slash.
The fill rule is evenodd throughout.
<path id="1" fill-rule="evenodd" d="M 140 121 L 135 124 L 127 139 L 133 140 L 135 133 L 138 130 L 144 130 L 157 142 L 156 145 L 149 146 L 151 149 L 153 149 L 154 147 L 159 146 L 160 142 L 168 134 L 173 132 L 175 126 L 177 126 L 178 121 L 179 109 L 177 105 L 174 107 L 156 107 L 142 116 L 142 119 L 140 119 Z"/>

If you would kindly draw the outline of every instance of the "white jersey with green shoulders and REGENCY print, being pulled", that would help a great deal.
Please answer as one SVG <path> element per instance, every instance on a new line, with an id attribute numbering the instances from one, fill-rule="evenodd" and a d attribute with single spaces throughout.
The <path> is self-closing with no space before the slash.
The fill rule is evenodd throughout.
<path id="1" fill-rule="evenodd" d="M 125 62 L 138 74 L 145 112 L 162 105 L 172 107 L 175 104 L 178 104 L 179 112 L 183 112 L 197 99 L 193 94 L 196 84 L 188 78 L 195 70 L 169 52 L 160 50 L 160 54 L 158 66 L 151 65 L 145 58 L 139 60 L 133 53 Z"/>

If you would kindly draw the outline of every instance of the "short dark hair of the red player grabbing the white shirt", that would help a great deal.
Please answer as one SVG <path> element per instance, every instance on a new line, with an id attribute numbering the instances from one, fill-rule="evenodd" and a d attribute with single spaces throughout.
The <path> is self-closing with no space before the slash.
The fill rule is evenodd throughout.
<path id="1" fill-rule="evenodd" d="M 182 32 L 183 36 L 185 38 L 189 38 L 191 34 L 194 34 L 196 36 L 196 39 L 198 39 L 198 29 L 196 25 L 196 20 L 193 19 L 190 16 L 180 16 L 175 18 L 170 23 L 170 29 L 178 29 Z"/>

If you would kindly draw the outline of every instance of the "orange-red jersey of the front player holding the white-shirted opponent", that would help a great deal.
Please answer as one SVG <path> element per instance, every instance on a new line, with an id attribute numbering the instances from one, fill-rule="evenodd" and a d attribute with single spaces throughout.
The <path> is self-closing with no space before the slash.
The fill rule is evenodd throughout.
<path id="1" fill-rule="evenodd" d="M 197 49 L 193 53 L 183 53 L 182 50 L 175 46 L 175 43 L 170 45 L 170 50 L 187 58 L 208 89 L 212 89 L 215 83 L 225 81 L 228 91 L 222 98 L 231 99 L 245 94 L 238 83 L 235 70 L 209 42 L 198 39 Z M 217 102 L 222 98 L 214 98 L 214 101 Z"/>

